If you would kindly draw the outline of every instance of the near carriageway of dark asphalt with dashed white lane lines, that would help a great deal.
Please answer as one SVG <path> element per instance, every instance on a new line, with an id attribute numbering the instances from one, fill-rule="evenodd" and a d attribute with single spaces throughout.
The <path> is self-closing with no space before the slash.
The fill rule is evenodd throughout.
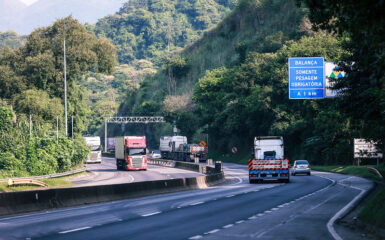
<path id="1" fill-rule="evenodd" d="M 250 185 L 247 166 L 224 171 L 207 189 L 3 217 L 0 238 L 333 239 L 332 220 L 372 185 L 331 173 Z"/>

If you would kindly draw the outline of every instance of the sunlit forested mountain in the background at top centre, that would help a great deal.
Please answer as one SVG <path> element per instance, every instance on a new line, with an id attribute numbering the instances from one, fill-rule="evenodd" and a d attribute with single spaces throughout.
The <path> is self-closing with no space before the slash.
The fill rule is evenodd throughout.
<path id="1" fill-rule="evenodd" d="M 120 63 L 146 59 L 159 64 L 169 53 L 198 40 L 219 23 L 235 0 L 131 0 L 95 26 L 118 47 Z"/>

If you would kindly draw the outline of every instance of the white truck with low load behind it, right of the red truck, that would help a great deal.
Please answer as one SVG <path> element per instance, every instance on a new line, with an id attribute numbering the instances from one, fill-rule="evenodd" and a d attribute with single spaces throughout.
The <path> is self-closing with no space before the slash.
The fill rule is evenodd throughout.
<path id="1" fill-rule="evenodd" d="M 191 162 L 207 160 L 207 147 L 198 144 L 188 144 L 185 136 L 162 136 L 159 150 L 162 158 L 176 161 Z"/>

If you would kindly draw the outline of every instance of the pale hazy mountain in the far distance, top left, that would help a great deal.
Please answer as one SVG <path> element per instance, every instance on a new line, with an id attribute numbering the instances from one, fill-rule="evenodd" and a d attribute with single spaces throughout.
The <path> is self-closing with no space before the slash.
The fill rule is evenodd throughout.
<path id="1" fill-rule="evenodd" d="M 95 23 L 119 10 L 126 0 L 39 0 L 26 6 L 19 0 L 0 0 L 0 31 L 29 34 L 59 18 L 72 15 L 81 23 Z"/>

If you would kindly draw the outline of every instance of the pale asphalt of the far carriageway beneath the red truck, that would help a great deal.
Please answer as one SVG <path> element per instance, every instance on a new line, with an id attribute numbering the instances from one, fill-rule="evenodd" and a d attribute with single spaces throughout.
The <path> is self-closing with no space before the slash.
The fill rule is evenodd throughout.
<path id="1" fill-rule="evenodd" d="M 107 157 L 103 157 L 100 164 L 87 164 L 86 168 L 87 174 L 68 180 L 76 186 L 94 186 L 202 176 L 196 172 L 155 165 L 148 165 L 147 171 L 118 171 L 115 159 Z"/>

